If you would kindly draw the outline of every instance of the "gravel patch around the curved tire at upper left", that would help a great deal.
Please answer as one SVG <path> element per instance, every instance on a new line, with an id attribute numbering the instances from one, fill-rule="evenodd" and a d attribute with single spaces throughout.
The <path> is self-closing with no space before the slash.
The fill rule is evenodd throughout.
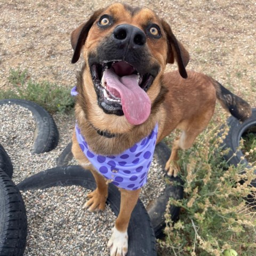
<path id="1" fill-rule="evenodd" d="M 33 155 L 30 152 L 36 127 L 33 114 L 18 105 L 0 106 L 0 143 L 13 163 L 14 183 L 57 165 L 58 156 L 71 140 L 74 116 L 56 114 L 53 117 L 60 132 L 58 147 L 47 153 Z"/>

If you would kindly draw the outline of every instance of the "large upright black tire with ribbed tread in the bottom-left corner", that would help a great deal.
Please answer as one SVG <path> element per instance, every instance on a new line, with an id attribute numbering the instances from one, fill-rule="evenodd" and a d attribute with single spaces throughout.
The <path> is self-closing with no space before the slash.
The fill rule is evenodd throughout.
<path id="1" fill-rule="evenodd" d="M 27 215 L 19 189 L 0 168 L 0 256 L 21 256 L 26 247 Z"/>

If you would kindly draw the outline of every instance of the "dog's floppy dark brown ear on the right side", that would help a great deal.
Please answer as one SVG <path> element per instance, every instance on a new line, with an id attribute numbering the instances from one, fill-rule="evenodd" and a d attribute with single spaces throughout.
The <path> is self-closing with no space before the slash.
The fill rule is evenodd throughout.
<path id="1" fill-rule="evenodd" d="M 168 44 L 168 55 L 167 63 L 174 63 L 174 60 L 177 61 L 179 67 L 179 73 L 183 78 L 187 78 L 186 66 L 189 61 L 189 53 L 185 47 L 176 39 L 172 33 L 172 29 L 169 24 L 162 20 L 162 26 L 167 37 Z"/>

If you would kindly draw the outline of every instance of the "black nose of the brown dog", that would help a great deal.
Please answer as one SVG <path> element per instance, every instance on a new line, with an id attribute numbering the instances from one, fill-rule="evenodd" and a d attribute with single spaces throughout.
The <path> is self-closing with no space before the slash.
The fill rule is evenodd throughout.
<path id="1" fill-rule="evenodd" d="M 130 45 L 131 47 L 143 46 L 146 43 L 145 33 L 132 25 L 122 24 L 115 28 L 114 38 L 122 43 L 123 46 Z"/>

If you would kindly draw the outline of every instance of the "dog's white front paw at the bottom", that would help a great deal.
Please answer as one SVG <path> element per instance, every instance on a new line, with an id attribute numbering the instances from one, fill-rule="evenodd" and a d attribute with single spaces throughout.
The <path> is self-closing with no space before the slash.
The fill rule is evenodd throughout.
<path id="1" fill-rule="evenodd" d="M 128 251 L 127 231 L 120 232 L 114 227 L 107 246 L 110 249 L 110 256 L 125 256 Z"/>

